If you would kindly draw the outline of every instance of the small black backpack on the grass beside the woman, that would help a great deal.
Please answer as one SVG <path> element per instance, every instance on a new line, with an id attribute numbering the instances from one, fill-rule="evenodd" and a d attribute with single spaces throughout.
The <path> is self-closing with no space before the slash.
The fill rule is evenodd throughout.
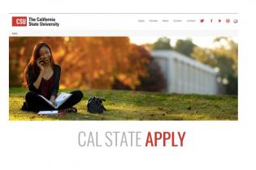
<path id="1" fill-rule="evenodd" d="M 102 101 L 106 101 L 97 96 L 90 96 L 87 101 L 87 110 L 89 113 L 103 113 L 106 111 L 106 108 L 103 105 Z"/>

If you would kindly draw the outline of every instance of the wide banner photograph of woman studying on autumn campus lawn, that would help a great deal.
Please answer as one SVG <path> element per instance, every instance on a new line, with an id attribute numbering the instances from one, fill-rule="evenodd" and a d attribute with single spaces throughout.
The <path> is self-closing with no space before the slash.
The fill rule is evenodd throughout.
<path id="1" fill-rule="evenodd" d="M 229 36 L 11 36 L 11 121 L 237 121 Z"/>

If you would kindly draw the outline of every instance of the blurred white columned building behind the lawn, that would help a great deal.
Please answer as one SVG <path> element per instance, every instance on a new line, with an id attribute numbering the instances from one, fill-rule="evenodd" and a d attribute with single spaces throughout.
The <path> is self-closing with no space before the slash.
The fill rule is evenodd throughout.
<path id="1" fill-rule="evenodd" d="M 215 70 L 172 50 L 154 50 L 154 61 L 161 67 L 167 92 L 215 95 L 218 93 Z"/>

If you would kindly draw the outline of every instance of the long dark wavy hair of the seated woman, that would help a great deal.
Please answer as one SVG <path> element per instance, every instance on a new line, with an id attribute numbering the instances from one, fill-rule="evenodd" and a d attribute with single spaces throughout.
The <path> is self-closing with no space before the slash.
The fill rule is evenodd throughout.
<path id="1" fill-rule="evenodd" d="M 50 46 L 47 45 L 45 42 L 40 42 L 37 45 L 35 45 L 34 49 L 33 49 L 33 55 L 30 58 L 30 61 L 28 62 L 28 65 L 26 66 L 25 70 L 24 70 L 24 86 L 28 87 L 28 85 L 30 83 L 33 83 L 34 81 L 36 81 L 39 73 L 40 73 L 40 69 L 37 66 L 37 58 L 40 57 L 40 49 L 42 47 L 46 47 L 50 50 L 50 65 L 53 67 L 54 66 L 54 58 L 53 55 L 51 53 L 51 49 Z"/>

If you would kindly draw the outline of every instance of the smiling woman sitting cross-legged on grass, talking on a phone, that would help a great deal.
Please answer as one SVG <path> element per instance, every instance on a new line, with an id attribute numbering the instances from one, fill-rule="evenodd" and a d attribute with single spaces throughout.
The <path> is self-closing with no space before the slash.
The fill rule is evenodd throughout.
<path id="1" fill-rule="evenodd" d="M 55 103 L 59 91 L 60 72 L 60 66 L 54 64 L 50 46 L 44 42 L 35 45 L 33 56 L 24 70 L 24 86 L 28 87 L 29 91 L 25 96 L 26 102 L 22 109 L 33 112 L 56 110 L 41 96 L 44 96 L 53 104 Z M 58 110 L 62 110 L 65 113 L 76 113 L 77 110 L 73 106 L 80 102 L 83 98 L 83 93 L 81 91 L 72 91 L 70 93 L 72 96 Z"/>

